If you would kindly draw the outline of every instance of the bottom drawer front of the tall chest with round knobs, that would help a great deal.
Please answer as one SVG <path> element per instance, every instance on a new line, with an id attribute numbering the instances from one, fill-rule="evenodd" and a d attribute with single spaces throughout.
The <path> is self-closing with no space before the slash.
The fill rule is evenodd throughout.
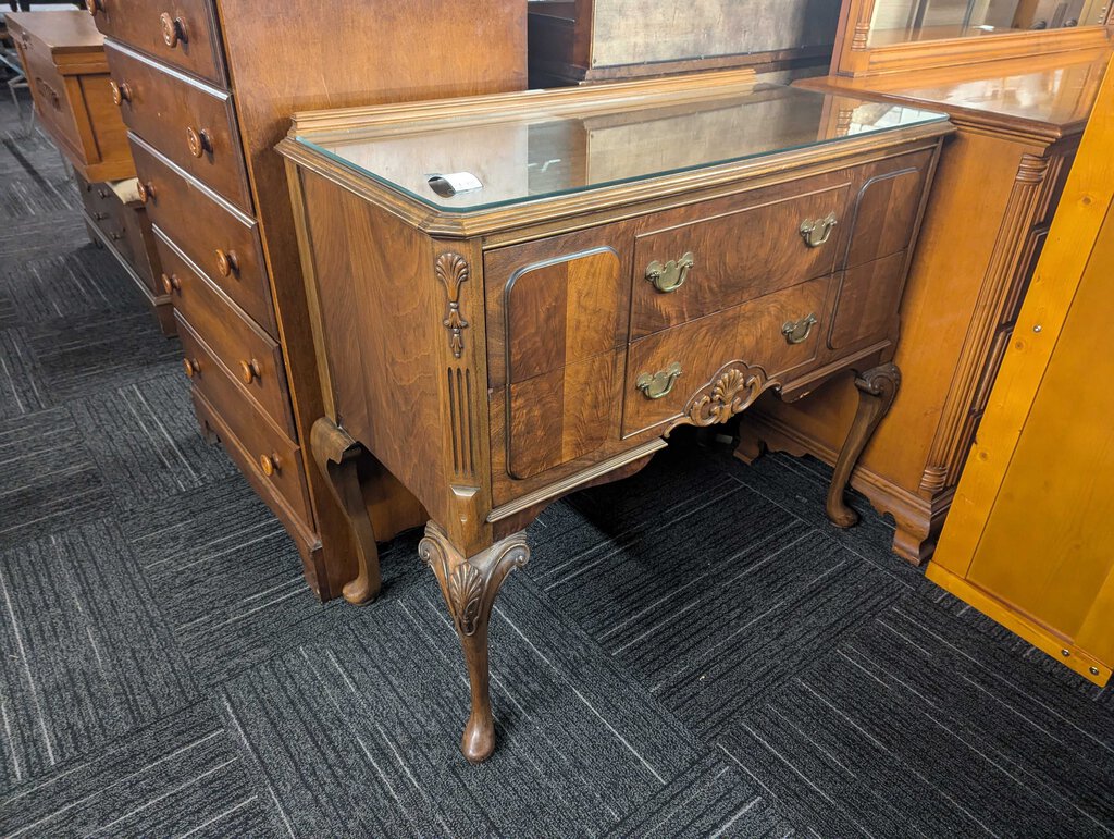
<path id="1" fill-rule="evenodd" d="M 221 414 L 236 443 L 248 453 L 251 467 L 305 521 L 312 521 L 301 449 L 260 412 L 176 312 L 184 365 L 197 391 Z"/>

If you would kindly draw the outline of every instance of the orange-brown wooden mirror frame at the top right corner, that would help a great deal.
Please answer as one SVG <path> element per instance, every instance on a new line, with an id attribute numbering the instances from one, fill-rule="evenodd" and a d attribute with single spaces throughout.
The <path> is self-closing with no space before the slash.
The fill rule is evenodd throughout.
<path id="1" fill-rule="evenodd" d="M 998 59 L 1114 47 L 1114 0 L 1102 11 L 1102 23 L 1069 29 L 1018 30 L 985 38 L 947 38 L 870 46 L 870 21 L 878 0 L 843 0 L 833 76 L 879 76 L 902 70 L 924 70 Z"/>

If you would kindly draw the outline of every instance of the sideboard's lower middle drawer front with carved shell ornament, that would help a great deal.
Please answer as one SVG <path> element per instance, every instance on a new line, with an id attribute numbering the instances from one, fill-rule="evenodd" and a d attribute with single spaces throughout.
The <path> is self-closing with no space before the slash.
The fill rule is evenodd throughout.
<path id="1" fill-rule="evenodd" d="M 829 284 L 812 280 L 631 344 L 624 437 L 685 416 L 726 420 L 766 381 L 801 375 L 818 358 Z"/>

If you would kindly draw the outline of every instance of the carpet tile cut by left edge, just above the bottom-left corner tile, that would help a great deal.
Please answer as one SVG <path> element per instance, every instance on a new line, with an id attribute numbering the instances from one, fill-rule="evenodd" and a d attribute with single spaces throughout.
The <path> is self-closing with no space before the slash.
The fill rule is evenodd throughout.
<path id="1" fill-rule="evenodd" d="M 41 775 L 196 700 L 117 525 L 0 555 L 0 783 Z"/>

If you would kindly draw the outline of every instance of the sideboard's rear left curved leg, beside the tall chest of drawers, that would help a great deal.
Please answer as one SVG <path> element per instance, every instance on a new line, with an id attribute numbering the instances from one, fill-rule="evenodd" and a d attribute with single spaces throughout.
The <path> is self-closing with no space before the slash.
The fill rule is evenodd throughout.
<path id="1" fill-rule="evenodd" d="M 310 432 L 310 451 L 336 504 L 349 520 L 352 542 L 355 544 L 356 578 L 341 589 L 344 599 L 353 606 L 363 606 L 379 596 L 382 579 L 379 575 L 379 548 L 371 517 L 360 489 L 356 464 L 364 449 L 328 417 L 313 423 Z"/>

